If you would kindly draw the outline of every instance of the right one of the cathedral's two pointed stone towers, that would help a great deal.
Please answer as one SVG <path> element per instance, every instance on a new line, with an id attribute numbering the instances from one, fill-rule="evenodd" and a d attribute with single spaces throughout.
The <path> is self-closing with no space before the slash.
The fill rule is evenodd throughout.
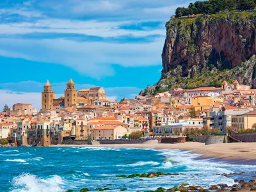
<path id="1" fill-rule="evenodd" d="M 65 108 L 70 108 L 77 104 L 77 91 L 75 83 L 70 79 L 65 90 Z"/>

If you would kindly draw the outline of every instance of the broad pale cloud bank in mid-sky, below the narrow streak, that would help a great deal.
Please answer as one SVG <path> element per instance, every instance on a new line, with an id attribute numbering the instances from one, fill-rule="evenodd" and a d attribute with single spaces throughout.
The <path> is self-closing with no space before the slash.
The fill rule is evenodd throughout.
<path id="1" fill-rule="evenodd" d="M 1 47 L 6 50 L 0 51 L 0 55 L 58 63 L 86 76 L 100 79 L 115 75 L 115 70 L 111 67 L 115 63 L 123 67 L 159 65 L 161 63 L 159 53 L 162 51 L 163 43 L 164 38 L 140 44 L 75 42 L 65 39 L 0 39 Z M 19 54 L 16 54 L 17 52 Z"/>

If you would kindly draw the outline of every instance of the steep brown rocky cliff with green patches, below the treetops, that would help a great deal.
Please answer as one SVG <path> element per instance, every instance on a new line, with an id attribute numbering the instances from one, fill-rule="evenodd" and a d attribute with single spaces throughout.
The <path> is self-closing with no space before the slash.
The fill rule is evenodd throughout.
<path id="1" fill-rule="evenodd" d="M 140 94 L 221 86 L 224 79 L 256 88 L 255 28 L 255 12 L 171 19 L 166 23 L 161 79 Z"/>

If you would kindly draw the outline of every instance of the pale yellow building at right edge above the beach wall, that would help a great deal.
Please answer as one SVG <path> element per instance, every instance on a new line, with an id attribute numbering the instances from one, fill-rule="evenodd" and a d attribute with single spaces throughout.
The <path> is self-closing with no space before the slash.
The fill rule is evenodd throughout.
<path id="1" fill-rule="evenodd" d="M 250 111 L 243 115 L 232 115 L 231 125 L 236 129 L 253 129 L 256 124 L 256 111 Z"/>

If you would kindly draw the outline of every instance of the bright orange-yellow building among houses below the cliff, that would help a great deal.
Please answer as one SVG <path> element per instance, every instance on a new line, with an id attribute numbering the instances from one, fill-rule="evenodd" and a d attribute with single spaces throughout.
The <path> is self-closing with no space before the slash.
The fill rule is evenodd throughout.
<path id="1" fill-rule="evenodd" d="M 210 109 L 216 106 L 217 103 L 223 102 L 223 99 L 213 98 L 209 96 L 193 96 L 191 100 L 191 105 L 195 107 L 195 111 L 202 111 L 205 109 Z"/>

